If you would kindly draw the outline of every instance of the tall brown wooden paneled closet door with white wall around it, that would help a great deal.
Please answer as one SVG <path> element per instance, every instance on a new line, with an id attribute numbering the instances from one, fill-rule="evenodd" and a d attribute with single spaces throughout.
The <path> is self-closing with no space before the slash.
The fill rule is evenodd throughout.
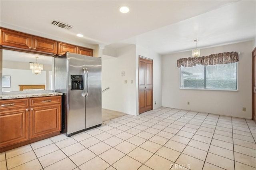
<path id="1" fill-rule="evenodd" d="M 139 114 L 153 109 L 153 61 L 139 56 Z"/>

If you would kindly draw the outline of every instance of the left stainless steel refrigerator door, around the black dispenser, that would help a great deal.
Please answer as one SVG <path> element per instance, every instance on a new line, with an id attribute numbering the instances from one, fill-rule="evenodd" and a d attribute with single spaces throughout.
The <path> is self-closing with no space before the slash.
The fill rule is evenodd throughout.
<path id="1" fill-rule="evenodd" d="M 84 90 L 71 90 L 71 75 L 83 75 L 84 55 L 66 53 L 67 57 L 67 134 L 85 129 Z"/>

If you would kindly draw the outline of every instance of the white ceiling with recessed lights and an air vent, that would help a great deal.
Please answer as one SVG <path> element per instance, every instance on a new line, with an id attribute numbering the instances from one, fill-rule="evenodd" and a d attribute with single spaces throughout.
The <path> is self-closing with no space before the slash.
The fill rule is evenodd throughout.
<path id="1" fill-rule="evenodd" d="M 122 14 L 118 7 L 130 12 Z M 82 44 L 144 45 L 160 54 L 252 40 L 256 1 L 0 1 L 2 27 Z M 73 26 L 53 26 L 58 20 Z M 83 34 L 78 38 L 76 34 Z"/>

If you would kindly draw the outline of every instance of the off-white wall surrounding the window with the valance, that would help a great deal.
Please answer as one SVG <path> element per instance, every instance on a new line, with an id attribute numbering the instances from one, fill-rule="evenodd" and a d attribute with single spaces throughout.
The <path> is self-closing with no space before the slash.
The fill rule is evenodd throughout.
<path id="1" fill-rule="evenodd" d="M 251 119 L 252 45 L 253 42 L 249 41 L 200 50 L 201 56 L 229 51 L 241 52 L 238 62 L 238 91 L 180 89 L 177 59 L 190 57 L 191 51 L 163 55 L 163 106 Z M 190 105 L 187 105 L 188 101 Z M 246 107 L 246 112 L 242 111 L 242 107 Z"/>

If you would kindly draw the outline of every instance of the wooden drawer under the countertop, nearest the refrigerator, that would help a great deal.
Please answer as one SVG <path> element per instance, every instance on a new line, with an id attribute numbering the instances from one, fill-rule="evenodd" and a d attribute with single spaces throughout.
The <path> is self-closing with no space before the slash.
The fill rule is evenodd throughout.
<path id="1" fill-rule="evenodd" d="M 30 107 L 46 106 L 61 103 L 61 96 L 34 97 L 30 98 Z"/>

